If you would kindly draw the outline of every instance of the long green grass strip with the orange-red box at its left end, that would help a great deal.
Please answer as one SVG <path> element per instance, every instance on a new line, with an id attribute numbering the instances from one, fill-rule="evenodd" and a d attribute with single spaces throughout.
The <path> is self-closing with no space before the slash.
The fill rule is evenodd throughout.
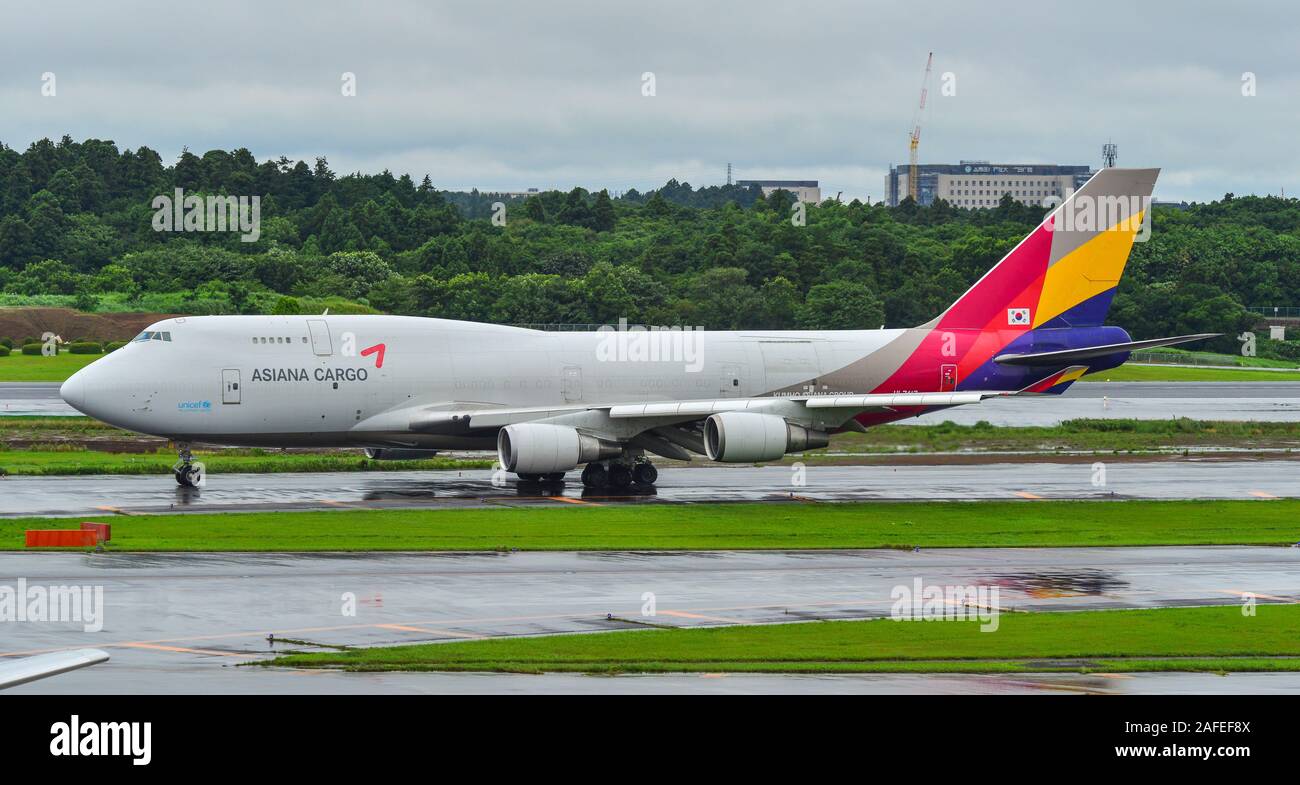
<path id="1" fill-rule="evenodd" d="M 3 489 L 0 489 L 3 490 Z M 1290 545 L 1300 500 L 606 504 L 101 516 L 113 551 Z M 0 520 L 0 550 L 66 519 Z"/>

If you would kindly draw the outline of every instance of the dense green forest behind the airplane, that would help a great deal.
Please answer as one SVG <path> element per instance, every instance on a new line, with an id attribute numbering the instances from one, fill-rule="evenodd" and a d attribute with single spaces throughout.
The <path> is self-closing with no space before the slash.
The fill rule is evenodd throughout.
<path id="1" fill-rule="evenodd" d="M 152 201 L 259 195 L 256 242 L 156 231 Z M 506 204 L 493 220 L 493 203 Z M 425 175 L 339 175 L 325 159 L 157 152 L 112 142 L 0 143 L 0 305 L 294 313 L 324 307 L 511 324 L 878 328 L 931 318 L 1043 211 L 828 201 L 792 224 L 758 188 L 439 191 Z M 1300 305 L 1300 203 L 1234 198 L 1156 208 L 1110 321 L 1135 337 L 1218 331 L 1253 305 Z M 1261 342 L 1300 356 L 1300 344 Z"/>

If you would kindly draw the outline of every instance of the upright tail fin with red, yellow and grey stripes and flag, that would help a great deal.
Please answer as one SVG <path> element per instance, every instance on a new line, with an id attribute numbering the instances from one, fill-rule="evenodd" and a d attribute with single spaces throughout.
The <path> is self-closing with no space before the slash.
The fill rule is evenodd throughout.
<path id="1" fill-rule="evenodd" d="M 1160 169 L 1102 169 L 928 326 L 1031 330 L 1106 318 Z"/>

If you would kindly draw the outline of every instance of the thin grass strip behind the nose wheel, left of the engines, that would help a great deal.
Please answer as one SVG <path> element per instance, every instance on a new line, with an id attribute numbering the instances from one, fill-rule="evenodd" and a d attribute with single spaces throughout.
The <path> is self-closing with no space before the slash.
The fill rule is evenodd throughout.
<path id="1" fill-rule="evenodd" d="M 490 459 L 433 457 L 426 460 L 369 460 L 361 455 L 312 455 L 265 450 L 195 451 L 211 474 L 255 472 L 400 472 L 411 469 L 488 469 Z M 170 474 L 174 451 L 99 452 L 92 450 L 0 450 L 3 476 Z"/>

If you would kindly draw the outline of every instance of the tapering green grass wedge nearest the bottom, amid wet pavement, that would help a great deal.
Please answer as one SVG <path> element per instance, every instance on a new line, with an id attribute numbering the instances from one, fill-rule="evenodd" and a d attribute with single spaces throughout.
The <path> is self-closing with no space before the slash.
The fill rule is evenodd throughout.
<path id="1" fill-rule="evenodd" d="M 653 621 L 653 620 L 647 620 Z M 1296 671 L 1300 606 L 1001 613 L 979 621 L 811 621 L 650 629 L 294 654 L 348 671 L 1044 672 Z"/>

